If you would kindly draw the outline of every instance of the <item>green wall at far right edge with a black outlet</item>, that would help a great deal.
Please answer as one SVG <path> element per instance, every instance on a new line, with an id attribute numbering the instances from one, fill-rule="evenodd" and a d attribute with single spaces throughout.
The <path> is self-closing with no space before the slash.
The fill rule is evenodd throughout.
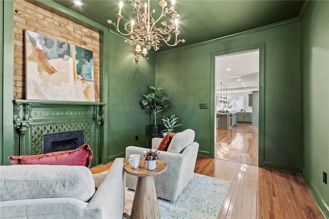
<path id="1" fill-rule="evenodd" d="M 302 19 L 302 168 L 327 217 L 329 181 L 324 184 L 322 173 L 325 171 L 329 176 L 328 61 L 329 2 L 313 1 Z"/>

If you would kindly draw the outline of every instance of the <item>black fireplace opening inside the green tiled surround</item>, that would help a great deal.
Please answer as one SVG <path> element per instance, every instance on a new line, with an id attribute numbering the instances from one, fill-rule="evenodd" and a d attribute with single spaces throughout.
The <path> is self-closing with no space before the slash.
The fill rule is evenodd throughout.
<path id="1" fill-rule="evenodd" d="M 83 130 L 45 134 L 43 153 L 77 149 L 84 143 L 83 138 Z"/>

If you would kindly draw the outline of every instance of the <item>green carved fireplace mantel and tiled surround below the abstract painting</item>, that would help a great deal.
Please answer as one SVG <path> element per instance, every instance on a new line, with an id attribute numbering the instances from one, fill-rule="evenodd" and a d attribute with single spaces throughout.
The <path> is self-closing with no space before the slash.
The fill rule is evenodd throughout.
<path id="1" fill-rule="evenodd" d="M 15 155 L 42 154 L 44 134 L 83 130 L 84 143 L 94 152 L 90 166 L 100 163 L 105 103 L 14 100 L 13 104 Z"/>

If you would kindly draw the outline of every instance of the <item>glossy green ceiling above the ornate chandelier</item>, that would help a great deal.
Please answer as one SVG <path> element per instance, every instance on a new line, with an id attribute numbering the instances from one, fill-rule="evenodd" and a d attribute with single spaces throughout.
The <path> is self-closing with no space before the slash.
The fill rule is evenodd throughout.
<path id="1" fill-rule="evenodd" d="M 119 0 L 81 0 L 82 6 L 74 5 L 72 0 L 53 1 L 114 30 L 107 20 L 115 21 Z M 122 15 L 125 17 L 123 21 L 129 22 L 133 16 L 131 1 L 122 1 Z M 151 0 L 150 9 L 159 13 L 161 8 L 158 3 L 158 0 Z M 171 1 L 167 0 L 167 3 L 167 7 L 170 7 Z M 303 3 L 304 1 L 176 0 L 175 9 L 180 14 L 180 38 L 186 42 L 179 43 L 175 48 L 298 17 Z M 171 48 L 173 47 L 162 46 L 158 51 Z"/>

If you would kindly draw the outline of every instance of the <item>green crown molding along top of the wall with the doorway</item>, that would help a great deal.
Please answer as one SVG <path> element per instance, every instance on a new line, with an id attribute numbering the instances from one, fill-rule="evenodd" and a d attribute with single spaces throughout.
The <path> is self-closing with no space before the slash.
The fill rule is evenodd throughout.
<path id="1" fill-rule="evenodd" d="M 201 42 L 201 43 L 195 43 L 195 44 L 188 45 L 188 46 L 183 46 L 183 47 L 179 47 L 179 48 L 169 49 L 169 50 L 166 50 L 166 51 L 156 52 L 155 54 L 156 55 L 165 54 L 165 53 L 168 53 L 168 52 L 178 51 L 178 50 L 182 50 L 182 49 L 188 49 L 188 48 L 193 48 L 193 47 L 197 47 L 197 46 L 205 46 L 205 45 L 208 45 L 208 44 L 213 44 L 213 43 L 218 43 L 218 42 L 222 42 L 222 41 L 241 38 L 242 36 L 250 35 L 250 34 L 257 33 L 257 32 L 260 32 L 260 31 L 264 31 L 264 30 L 267 30 L 267 29 L 271 29 L 271 28 L 275 28 L 275 27 L 279 27 L 279 26 L 284 26 L 284 25 L 291 24 L 291 23 L 296 23 L 296 22 L 300 22 L 299 17 L 294 17 L 293 19 L 288 19 L 288 20 L 277 22 L 277 23 L 274 23 L 274 24 L 269 24 L 269 25 L 266 25 L 266 26 L 262 26 L 262 27 L 242 31 L 242 32 L 239 32 L 239 33 L 234 33 L 234 34 L 230 34 L 230 35 L 227 35 L 227 36 L 222 36 L 220 38 L 216 38 L 216 39 L 213 39 L 213 40 L 208 40 L 208 41 Z"/>

